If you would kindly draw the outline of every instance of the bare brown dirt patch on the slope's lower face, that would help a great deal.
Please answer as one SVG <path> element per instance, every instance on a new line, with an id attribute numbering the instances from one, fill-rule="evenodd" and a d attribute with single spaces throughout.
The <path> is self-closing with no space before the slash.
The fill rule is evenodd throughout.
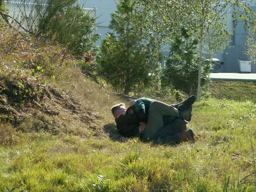
<path id="1" fill-rule="evenodd" d="M 27 81 L 0 79 L 0 82 L 0 122 L 11 124 L 18 131 L 86 136 L 95 129 L 97 114 L 71 94 Z"/>

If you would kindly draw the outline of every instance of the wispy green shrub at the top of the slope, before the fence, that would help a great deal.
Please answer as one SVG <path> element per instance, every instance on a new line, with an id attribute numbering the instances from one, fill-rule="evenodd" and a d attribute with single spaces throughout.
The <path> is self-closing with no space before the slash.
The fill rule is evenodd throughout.
<path id="1" fill-rule="evenodd" d="M 64 45 L 72 54 L 82 57 L 93 49 L 99 35 L 95 34 L 96 18 L 84 12 L 76 1 L 36 0 L 37 5 L 32 7 L 35 18 L 27 18 L 27 23 L 34 19 L 38 22 L 37 28 L 30 30 L 35 34 L 45 35 L 44 38 Z"/>

